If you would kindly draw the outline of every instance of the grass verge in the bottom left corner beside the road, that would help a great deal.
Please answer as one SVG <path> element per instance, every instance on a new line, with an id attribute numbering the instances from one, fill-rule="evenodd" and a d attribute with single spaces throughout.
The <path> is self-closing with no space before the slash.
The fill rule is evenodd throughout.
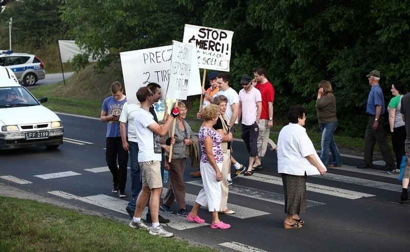
<path id="1" fill-rule="evenodd" d="M 0 197 L 0 219 L 0 251 L 215 251 L 32 200 Z"/>

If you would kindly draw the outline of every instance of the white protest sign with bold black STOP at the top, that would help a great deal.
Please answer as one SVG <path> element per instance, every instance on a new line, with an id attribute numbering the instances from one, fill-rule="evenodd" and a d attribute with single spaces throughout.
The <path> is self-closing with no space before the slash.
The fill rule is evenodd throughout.
<path id="1" fill-rule="evenodd" d="M 199 68 L 229 72 L 234 32 L 185 25 L 183 43 L 196 46 Z"/>

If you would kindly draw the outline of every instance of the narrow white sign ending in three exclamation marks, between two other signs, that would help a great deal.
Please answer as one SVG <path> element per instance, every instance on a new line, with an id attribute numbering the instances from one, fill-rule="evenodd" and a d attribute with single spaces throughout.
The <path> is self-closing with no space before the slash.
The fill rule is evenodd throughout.
<path id="1" fill-rule="evenodd" d="M 190 44 L 175 40 L 172 42 L 171 74 L 167 89 L 167 98 L 186 100 L 190 87 L 197 86 L 200 89 L 200 82 L 195 82 L 191 79 L 191 69 L 194 68 L 192 66 L 192 55 L 195 51 L 194 47 Z M 199 80 L 199 75 L 197 77 Z"/>

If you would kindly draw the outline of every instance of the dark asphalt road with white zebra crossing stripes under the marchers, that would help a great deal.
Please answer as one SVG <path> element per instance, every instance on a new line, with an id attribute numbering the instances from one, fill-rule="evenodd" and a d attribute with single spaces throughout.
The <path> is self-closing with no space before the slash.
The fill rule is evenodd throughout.
<path id="1" fill-rule="evenodd" d="M 85 213 L 98 213 L 127 225 L 125 206 L 131 200 L 111 193 L 112 177 L 105 162 L 106 124 L 96 118 L 58 114 L 65 127 L 64 144 L 56 151 L 28 148 L 0 152 L 0 182 L 4 188 L 65 202 Z M 236 136 L 238 137 L 238 136 Z M 235 158 L 247 165 L 243 142 L 235 141 Z M 408 251 L 407 223 L 410 208 L 399 204 L 401 182 L 397 176 L 377 170 L 358 170 L 361 157 L 343 156 L 344 165 L 325 176 L 308 177 L 308 210 L 300 229 L 284 229 L 283 188 L 277 173 L 277 157 L 268 151 L 263 170 L 243 175 L 230 186 L 229 208 L 234 215 L 221 215 L 230 229 L 211 229 L 211 215 L 200 210 L 206 224 L 193 224 L 174 214 L 166 227 L 175 236 L 223 251 Z M 374 161 L 382 167 L 383 161 Z M 201 189 L 201 179 L 188 160 L 185 181 L 187 209 Z M 164 184 L 165 194 L 169 182 Z M 3 187 L 2 187 L 3 188 Z M 143 215 L 143 218 L 145 215 Z"/>

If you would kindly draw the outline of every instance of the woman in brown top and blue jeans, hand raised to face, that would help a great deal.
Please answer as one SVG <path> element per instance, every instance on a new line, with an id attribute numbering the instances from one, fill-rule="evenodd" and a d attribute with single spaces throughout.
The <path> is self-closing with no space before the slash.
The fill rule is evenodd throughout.
<path id="1" fill-rule="evenodd" d="M 320 130 L 322 131 L 322 141 L 320 160 L 326 167 L 342 166 L 342 158 L 337 149 L 333 134 L 337 128 L 338 120 L 336 117 L 336 98 L 333 95 L 332 85 L 327 80 L 319 83 L 319 91 L 316 99 L 316 112 L 319 120 Z M 329 150 L 332 153 L 333 161 L 329 164 Z"/>

